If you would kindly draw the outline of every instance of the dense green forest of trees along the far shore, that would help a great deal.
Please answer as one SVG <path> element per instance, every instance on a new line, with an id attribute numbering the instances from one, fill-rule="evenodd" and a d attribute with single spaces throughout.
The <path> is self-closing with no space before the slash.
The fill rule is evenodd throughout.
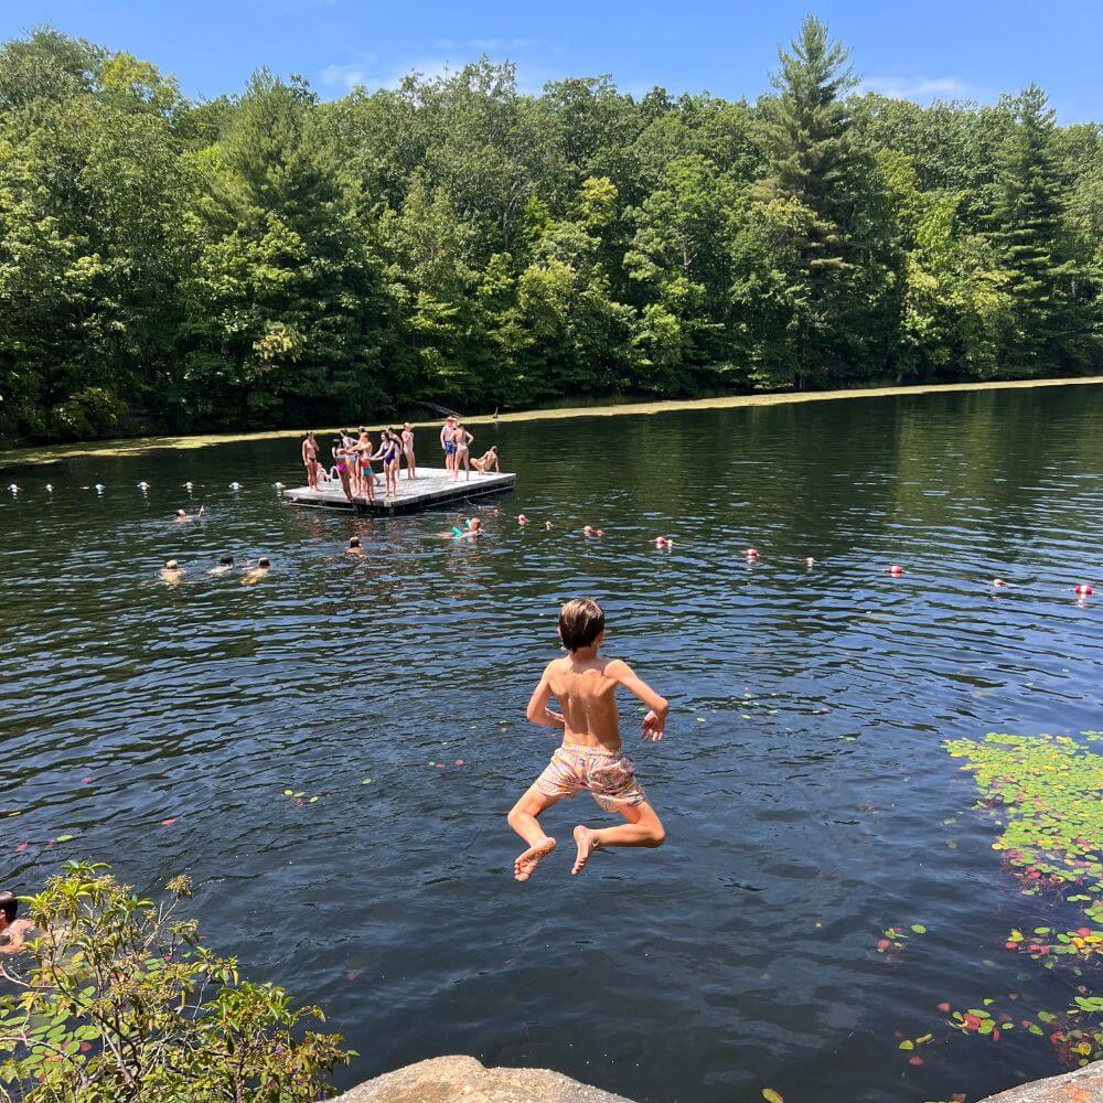
<path id="1" fill-rule="evenodd" d="M 193 101 L 0 47 L 0 442 L 1096 371 L 1103 130 L 859 94 L 810 18 L 757 103 L 482 58 Z"/>

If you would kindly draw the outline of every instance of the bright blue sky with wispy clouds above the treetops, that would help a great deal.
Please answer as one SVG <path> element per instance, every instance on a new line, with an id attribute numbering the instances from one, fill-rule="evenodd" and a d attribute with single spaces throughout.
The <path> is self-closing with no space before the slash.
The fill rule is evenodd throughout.
<path id="1" fill-rule="evenodd" d="M 515 61 L 532 90 L 609 73 L 633 93 L 753 98 L 808 11 L 852 47 L 866 87 L 993 103 L 1035 81 L 1061 121 L 1103 121 L 1100 0 L 0 0 L 0 38 L 50 22 L 157 63 L 189 95 L 235 92 L 268 65 L 330 98 L 485 53 Z"/>

